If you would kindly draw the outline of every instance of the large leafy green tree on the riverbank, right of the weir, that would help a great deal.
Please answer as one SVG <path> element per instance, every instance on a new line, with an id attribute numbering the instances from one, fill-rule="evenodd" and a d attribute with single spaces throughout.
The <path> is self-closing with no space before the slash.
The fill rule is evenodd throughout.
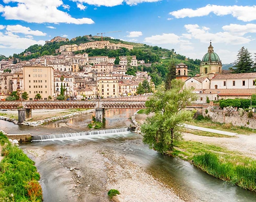
<path id="1" fill-rule="evenodd" d="M 181 137 L 178 128 L 193 117 L 193 112 L 185 110 L 197 97 L 192 89 L 183 88 L 184 82 L 174 79 L 171 88 L 166 90 L 164 84 L 159 86 L 148 101 L 147 113 L 154 113 L 141 126 L 144 133 L 143 142 L 164 154 L 173 150 L 174 141 Z"/>

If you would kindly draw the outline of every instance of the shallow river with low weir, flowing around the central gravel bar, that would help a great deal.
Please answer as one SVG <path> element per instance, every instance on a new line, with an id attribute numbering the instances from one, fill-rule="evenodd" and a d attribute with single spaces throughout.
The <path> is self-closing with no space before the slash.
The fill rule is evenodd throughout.
<path id="1" fill-rule="evenodd" d="M 107 110 L 106 128 L 128 127 L 130 125 L 128 118 L 134 112 L 135 110 Z M 85 115 L 41 127 L 19 126 L 1 120 L 0 126 L 2 130 L 9 133 L 30 132 L 33 135 L 42 135 L 85 131 L 88 130 L 86 125 L 89 121 L 90 115 Z M 158 154 L 142 143 L 140 135 L 132 132 L 33 141 L 21 144 L 20 147 L 27 153 L 35 151 L 39 155 L 38 157 L 30 155 L 30 157 L 36 162 L 35 165 L 40 171 L 40 183 L 46 202 L 108 201 L 106 190 L 103 189 L 107 179 L 106 170 L 103 170 L 106 168 L 101 164 L 102 157 L 100 156 L 104 149 L 114 151 L 131 162 L 135 162 L 186 201 L 256 201 L 255 192 L 241 189 L 209 176 L 189 162 Z M 70 176 L 69 169 L 74 166 L 79 169 L 75 176 Z M 76 175 L 83 176 L 79 179 L 81 184 L 84 182 L 84 187 L 81 189 L 75 189 L 72 185 Z M 88 187 L 91 188 L 90 192 Z"/>

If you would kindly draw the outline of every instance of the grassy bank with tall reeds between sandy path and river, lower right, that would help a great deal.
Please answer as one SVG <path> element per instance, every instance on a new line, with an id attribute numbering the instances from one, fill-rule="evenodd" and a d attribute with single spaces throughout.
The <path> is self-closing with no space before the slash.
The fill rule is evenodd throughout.
<path id="1" fill-rule="evenodd" d="M 216 178 L 256 191 L 256 161 L 243 154 L 195 141 L 178 141 L 169 154 L 193 162 Z"/>

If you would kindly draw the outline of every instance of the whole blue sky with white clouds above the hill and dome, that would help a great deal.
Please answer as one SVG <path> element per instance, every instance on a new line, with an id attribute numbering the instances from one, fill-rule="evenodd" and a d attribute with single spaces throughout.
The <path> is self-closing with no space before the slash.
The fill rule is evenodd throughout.
<path id="1" fill-rule="evenodd" d="M 112 32 L 120 31 L 120 32 Z M 97 35 L 202 59 L 210 40 L 222 63 L 256 53 L 255 0 L 0 0 L 0 54 L 54 36 Z M 107 33 L 110 32 L 110 33 Z"/>

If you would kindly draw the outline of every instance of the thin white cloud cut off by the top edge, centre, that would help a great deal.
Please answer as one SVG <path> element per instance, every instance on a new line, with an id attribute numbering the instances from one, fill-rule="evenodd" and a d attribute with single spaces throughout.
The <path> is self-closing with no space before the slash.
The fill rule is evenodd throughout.
<path id="1" fill-rule="evenodd" d="M 157 2 L 161 0 L 72 0 L 74 2 L 86 3 L 95 6 L 117 6 L 123 3 L 128 5 L 137 5 L 144 2 Z"/>

